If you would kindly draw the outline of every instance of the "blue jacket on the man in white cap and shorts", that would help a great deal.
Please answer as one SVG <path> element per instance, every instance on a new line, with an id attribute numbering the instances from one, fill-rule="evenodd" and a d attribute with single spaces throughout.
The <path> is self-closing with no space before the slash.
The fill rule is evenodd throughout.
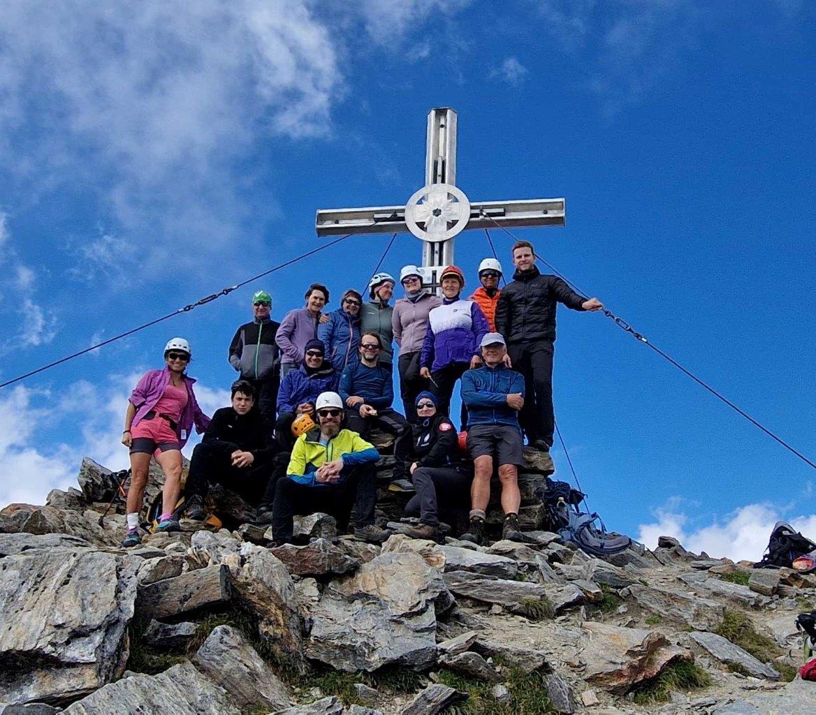
<path id="1" fill-rule="evenodd" d="M 499 363 L 468 370 L 462 376 L 462 401 L 468 406 L 468 426 L 518 426 L 518 412 L 508 407 L 507 397 L 513 392 L 524 395 L 524 377 Z M 521 431 L 521 430 L 520 430 Z"/>

